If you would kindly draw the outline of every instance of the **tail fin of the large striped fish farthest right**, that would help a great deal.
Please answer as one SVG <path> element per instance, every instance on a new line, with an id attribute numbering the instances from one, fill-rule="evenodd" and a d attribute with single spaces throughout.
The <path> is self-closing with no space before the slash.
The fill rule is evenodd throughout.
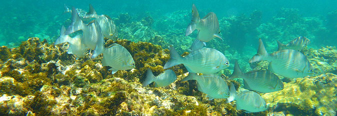
<path id="1" fill-rule="evenodd" d="M 259 44 L 258 44 L 257 53 L 253 57 L 251 57 L 251 59 L 249 60 L 249 63 L 264 60 L 268 56 L 268 53 L 265 50 L 262 39 L 261 38 L 258 39 L 258 42 Z"/>

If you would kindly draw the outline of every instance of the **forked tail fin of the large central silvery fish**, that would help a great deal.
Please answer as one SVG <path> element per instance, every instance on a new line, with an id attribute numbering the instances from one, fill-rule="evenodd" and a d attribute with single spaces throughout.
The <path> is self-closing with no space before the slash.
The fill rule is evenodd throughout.
<path id="1" fill-rule="evenodd" d="M 172 45 L 169 45 L 169 56 L 170 59 L 165 63 L 164 69 L 180 64 L 182 58 Z"/>

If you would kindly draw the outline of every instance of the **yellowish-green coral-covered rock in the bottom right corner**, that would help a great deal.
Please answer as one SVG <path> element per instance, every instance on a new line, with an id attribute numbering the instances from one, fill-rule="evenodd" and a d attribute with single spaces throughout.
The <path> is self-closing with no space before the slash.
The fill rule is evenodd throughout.
<path id="1" fill-rule="evenodd" d="M 337 75 L 332 73 L 297 78 L 284 89 L 262 97 L 272 111 L 291 115 L 335 115 Z"/>

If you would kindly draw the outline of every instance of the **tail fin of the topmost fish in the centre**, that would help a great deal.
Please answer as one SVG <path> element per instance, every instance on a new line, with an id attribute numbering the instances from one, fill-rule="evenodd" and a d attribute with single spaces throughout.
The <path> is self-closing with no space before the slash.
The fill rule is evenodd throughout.
<path id="1" fill-rule="evenodd" d="M 199 23 L 199 22 L 200 22 L 199 12 L 196 9 L 195 5 L 193 4 L 192 5 L 192 19 L 186 28 L 185 35 L 188 36 L 190 33 L 192 33 L 196 28 L 196 23 Z"/>

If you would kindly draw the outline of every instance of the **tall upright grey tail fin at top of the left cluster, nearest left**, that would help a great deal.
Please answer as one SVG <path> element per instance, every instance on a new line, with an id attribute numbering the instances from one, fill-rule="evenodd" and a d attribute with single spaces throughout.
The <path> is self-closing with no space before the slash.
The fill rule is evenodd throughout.
<path id="1" fill-rule="evenodd" d="M 81 29 L 85 28 L 85 26 L 86 25 L 80 19 L 76 8 L 72 7 L 71 8 L 71 23 L 68 26 L 68 28 L 66 29 L 66 31 L 64 32 L 64 34 L 70 34 L 70 33 L 75 32 L 77 30 L 81 30 Z"/>

